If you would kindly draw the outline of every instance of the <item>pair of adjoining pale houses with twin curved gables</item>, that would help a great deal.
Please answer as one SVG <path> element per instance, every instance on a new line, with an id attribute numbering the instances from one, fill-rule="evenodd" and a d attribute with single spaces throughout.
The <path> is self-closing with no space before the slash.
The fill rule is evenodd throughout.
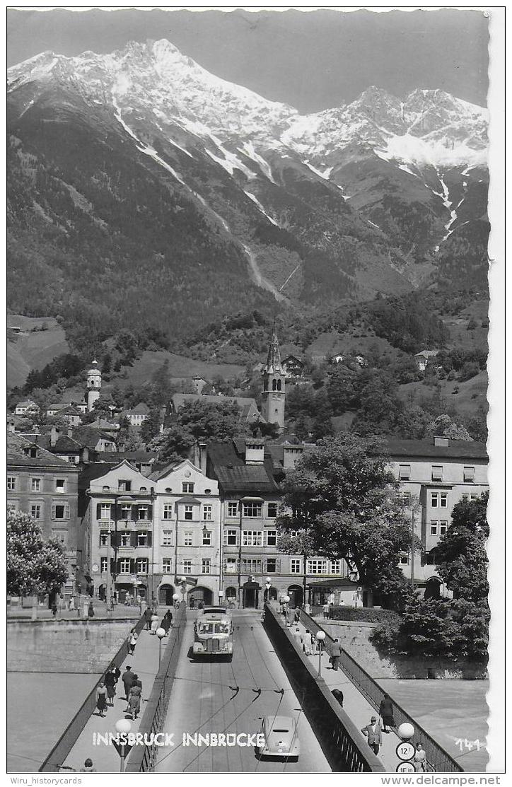
<path id="1" fill-rule="evenodd" d="M 108 587 L 173 604 L 179 593 L 217 601 L 221 578 L 221 504 L 217 482 L 190 460 L 143 475 L 124 460 L 87 468 L 83 521 L 87 566 L 100 598 Z"/>

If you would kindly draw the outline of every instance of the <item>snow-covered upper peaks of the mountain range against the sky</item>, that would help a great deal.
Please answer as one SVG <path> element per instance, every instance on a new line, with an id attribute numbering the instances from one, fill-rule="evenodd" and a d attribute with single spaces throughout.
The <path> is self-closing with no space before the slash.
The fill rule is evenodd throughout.
<path id="1" fill-rule="evenodd" d="M 258 153 L 288 149 L 324 169 L 368 155 L 407 165 L 485 162 L 487 111 L 442 90 L 417 88 L 401 101 L 371 86 L 349 104 L 301 116 L 206 71 L 167 39 L 106 55 L 43 52 L 9 69 L 11 89 L 51 79 L 91 104 L 110 101 L 117 119 L 145 118 L 151 133 L 178 126 L 224 144 L 256 144 Z"/>

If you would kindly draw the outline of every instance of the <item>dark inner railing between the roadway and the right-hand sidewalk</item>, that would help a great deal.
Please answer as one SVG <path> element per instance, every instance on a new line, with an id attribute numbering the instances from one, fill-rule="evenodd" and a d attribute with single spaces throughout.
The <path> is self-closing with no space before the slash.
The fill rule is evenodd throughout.
<path id="1" fill-rule="evenodd" d="M 265 604 L 263 626 L 332 770 L 353 774 L 384 773 L 383 764 L 332 696 L 324 679 L 318 678 L 310 660 L 270 604 Z"/>

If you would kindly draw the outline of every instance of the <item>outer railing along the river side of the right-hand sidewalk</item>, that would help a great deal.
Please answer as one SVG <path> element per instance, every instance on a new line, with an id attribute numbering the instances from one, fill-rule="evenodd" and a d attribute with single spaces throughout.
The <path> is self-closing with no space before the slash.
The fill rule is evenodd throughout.
<path id="1" fill-rule="evenodd" d="M 319 623 L 310 615 L 307 615 L 303 610 L 300 610 L 300 618 L 302 624 L 306 626 L 312 634 L 317 634 L 317 631 L 324 631 Z M 329 655 L 333 642 L 334 638 L 325 631 L 324 646 Z M 385 694 L 384 689 L 381 689 L 380 685 L 373 680 L 371 675 L 369 675 L 346 650 L 343 650 L 343 648 L 341 649 L 341 656 L 339 657 L 339 666 L 342 667 L 343 672 L 347 674 L 347 677 L 351 679 L 362 695 L 365 696 L 369 704 L 373 705 L 373 708 L 378 712 L 380 701 Z M 422 747 L 425 749 L 428 770 L 438 774 L 463 773 L 464 768 L 459 765 L 457 760 L 449 755 L 448 752 L 446 752 L 445 749 L 443 749 L 443 747 L 407 713 L 407 711 L 404 711 L 404 709 L 392 699 L 392 697 L 391 700 L 393 702 L 395 726 L 398 728 L 403 722 L 409 722 L 414 726 L 415 733 L 412 742 L 414 744 L 421 743 Z"/>

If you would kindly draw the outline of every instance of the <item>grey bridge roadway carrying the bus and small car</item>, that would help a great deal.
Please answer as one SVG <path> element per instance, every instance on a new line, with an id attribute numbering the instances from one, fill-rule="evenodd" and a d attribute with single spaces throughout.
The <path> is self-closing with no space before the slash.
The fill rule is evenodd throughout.
<path id="1" fill-rule="evenodd" d="M 174 747 L 162 747 L 156 773 L 330 773 L 321 746 L 301 710 L 299 699 L 263 630 L 261 613 L 234 610 L 234 654 L 229 662 L 192 661 L 194 615 L 187 624 L 164 731 Z M 230 686 L 239 686 L 239 692 Z M 257 689 L 262 689 L 258 696 Z M 284 689 L 281 695 L 280 689 Z M 260 717 L 287 715 L 298 721 L 299 762 L 258 760 L 248 746 L 184 746 L 183 733 L 258 733 Z M 245 741 L 245 739 L 243 739 Z"/>

